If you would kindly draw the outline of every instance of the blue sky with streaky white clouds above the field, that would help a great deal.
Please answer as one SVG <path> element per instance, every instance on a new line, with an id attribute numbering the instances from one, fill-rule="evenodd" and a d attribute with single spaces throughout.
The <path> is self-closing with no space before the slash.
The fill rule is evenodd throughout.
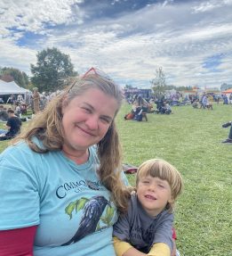
<path id="1" fill-rule="evenodd" d="M 57 47 L 75 70 L 97 67 L 122 87 L 232 85 L 232 0 L 1 0 L 0 67 L 31 76 Z"/>

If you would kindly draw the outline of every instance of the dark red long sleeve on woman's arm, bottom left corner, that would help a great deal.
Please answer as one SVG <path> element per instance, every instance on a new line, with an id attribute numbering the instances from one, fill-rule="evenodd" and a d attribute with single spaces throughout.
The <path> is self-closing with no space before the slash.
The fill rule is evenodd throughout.
<path id="1" fill-rule="evenodd" d="M 0 256 L 33 256 L 36 227 L 0 230 Z"/>

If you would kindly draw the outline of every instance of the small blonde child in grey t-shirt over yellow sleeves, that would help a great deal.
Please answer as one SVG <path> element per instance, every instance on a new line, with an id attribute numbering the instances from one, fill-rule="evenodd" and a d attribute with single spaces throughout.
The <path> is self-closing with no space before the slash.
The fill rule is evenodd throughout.
<path id="1" fill-rule="evenodd" d="M 152 159 L 140 165 L 136 194 L 114 226 L 117 256 L 171 256 L 172 211 L 181 189 L 180 173 L 167 161 Z"/>

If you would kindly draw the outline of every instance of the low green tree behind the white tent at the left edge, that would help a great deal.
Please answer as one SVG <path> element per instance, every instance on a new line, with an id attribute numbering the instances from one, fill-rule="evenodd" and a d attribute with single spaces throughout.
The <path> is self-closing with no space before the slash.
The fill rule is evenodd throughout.
<path id="1" fill-rule="evenodd" d="M 14 80 L 15 83 L 20 87 L 28 88 L 28 75 L 18 69 L 4 67 L 0 70 L 0 78 L 6 82 L 11 82 Z"/>

